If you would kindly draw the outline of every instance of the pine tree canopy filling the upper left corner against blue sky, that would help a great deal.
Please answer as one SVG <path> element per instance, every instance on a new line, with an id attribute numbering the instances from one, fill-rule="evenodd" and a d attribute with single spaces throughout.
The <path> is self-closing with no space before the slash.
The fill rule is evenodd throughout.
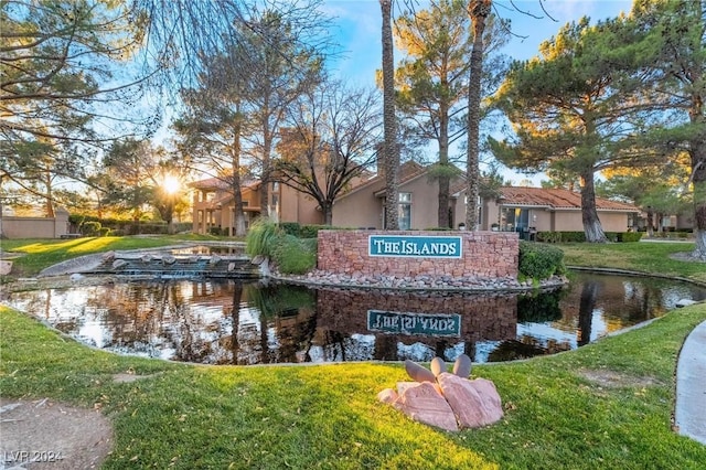
<path id="1" fill-rule="evenodd" d="M 52 181 L 85 181 L 96 148 L 120 129 L 145 124 L 129 111 L 145 76 L 118 73 L 139 49 L 143 26 L 145 17 L 121 1 L 0 4 L 0 182 L 6 190 L 44 199 L 52 215 Z"/>

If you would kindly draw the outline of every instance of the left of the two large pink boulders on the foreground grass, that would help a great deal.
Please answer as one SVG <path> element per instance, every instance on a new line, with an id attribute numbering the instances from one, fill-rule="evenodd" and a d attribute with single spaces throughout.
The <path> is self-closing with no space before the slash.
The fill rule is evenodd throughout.
<path id="1" fill-rule="evenodd" d="M 429 382 L 407 388 L 393 405 L 415 421 L 450 431 L 459 430 L 453 410 Z"/>

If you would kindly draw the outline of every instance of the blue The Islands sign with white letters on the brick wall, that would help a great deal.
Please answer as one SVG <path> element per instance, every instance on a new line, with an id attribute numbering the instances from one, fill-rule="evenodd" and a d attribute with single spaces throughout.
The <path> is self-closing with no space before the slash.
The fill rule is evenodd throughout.
<path id="1" fill-rule="evenodd" d="M 461 258 L 460 236 L 371 235 L 370 256 L 411 256 L 419 258 Z"/>

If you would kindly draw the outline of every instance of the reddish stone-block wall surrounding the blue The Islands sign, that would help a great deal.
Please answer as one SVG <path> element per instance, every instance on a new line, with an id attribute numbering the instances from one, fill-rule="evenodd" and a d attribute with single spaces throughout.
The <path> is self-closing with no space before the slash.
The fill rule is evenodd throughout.
<path id="1" fill-rule="evenodd" d="M 461 236 L 463 257 L 368 256 L 371 235 Z M 520 238 L 514 232 L 319 231 L 318 268 L 349 276 L 517 277 Z"/>

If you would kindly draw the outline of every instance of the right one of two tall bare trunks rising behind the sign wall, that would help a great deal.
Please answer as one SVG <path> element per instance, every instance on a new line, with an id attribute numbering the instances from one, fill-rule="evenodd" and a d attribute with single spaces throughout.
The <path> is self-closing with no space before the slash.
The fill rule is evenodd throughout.
<path id="1" fill-rule="evenodd" d="M 479 168 L 479 135 L 481 125 L 481 75 L 483 73 L 483 31 L 492 10 L 491 0 L 471 0 L 468 14 L 473 24 L 473 49 L 471 50 L 470 79 L 468 85 L 468 190 L 466 204 L 466 228 L 478 227 L 478 194 L 481 172 Z"/>

